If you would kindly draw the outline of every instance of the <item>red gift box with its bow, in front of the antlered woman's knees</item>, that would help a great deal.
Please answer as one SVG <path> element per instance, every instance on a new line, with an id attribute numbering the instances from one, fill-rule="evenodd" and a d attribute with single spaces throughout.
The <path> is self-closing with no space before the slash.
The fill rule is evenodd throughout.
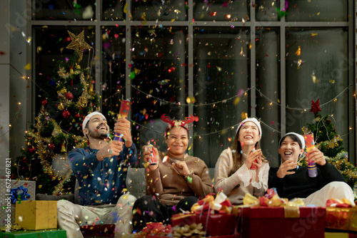
<path id="1" fill-rule="evenodd" d="M 173 227 L 201 223 L 204 232 L 206 232 L 206 237 L 238 237 L 238 233 L 236 233 L 238 220 L 237 217 L 231 213 L 231 210 L 231 202 L 229 202 L 226 195 L 221 192 L 218 193 L 216 198 L 212 195 L 208 195 L 203 200 L 199 200 L 198 203 L 191 208 L 191 213 L 174 214 L 171 217 L 171 222 Z"/>

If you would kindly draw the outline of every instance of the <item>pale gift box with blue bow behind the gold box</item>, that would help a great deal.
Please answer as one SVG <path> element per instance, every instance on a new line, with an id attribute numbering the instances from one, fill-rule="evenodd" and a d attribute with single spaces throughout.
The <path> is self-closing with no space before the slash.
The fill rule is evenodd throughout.
<path id="1" fill-rule="evenodd" d="M 15 200 L 35 200 L 35 195 L 34 181 L 0 179 L 0 205 L 3 208 L 0 209 L 0 227 L 15 224 Z"/>

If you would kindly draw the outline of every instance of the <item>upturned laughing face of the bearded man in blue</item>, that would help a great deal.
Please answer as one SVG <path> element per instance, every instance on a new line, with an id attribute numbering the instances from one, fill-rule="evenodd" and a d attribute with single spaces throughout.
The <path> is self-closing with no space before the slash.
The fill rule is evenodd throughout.
<path id="1" fill-rule="evenodd" d="M 108 136 L 109 125 L 106 122 L 106 118 L 101 115 L 94 115 L 83 132 L 88 138 L 103 140 Z"/>

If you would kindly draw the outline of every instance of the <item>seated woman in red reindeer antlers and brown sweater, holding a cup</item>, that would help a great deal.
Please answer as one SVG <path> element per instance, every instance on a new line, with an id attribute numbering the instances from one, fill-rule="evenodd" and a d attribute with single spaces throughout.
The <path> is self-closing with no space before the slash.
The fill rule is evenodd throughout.
<path id="1" fill-rule="evenodd" d="M 182 121 L 161 115 L 161 120 L 168 123 L 165 133 L 168 148 L 167 152 L 156 148 L 151 152 L 143 147 L 144 161 L 153 162 L 154 157 L 154 164 L 149 164 L 146 170 L 147 196 L 136 200 L 133 207 L 134 230 L 138 231 L 146 227 L 147 222 L 170 224 L 172 214 L 189 211 L 198 198 L 213 192 L 205 162 L 186 154 L 188 123 L 198 118 L 190 115 Z"/>

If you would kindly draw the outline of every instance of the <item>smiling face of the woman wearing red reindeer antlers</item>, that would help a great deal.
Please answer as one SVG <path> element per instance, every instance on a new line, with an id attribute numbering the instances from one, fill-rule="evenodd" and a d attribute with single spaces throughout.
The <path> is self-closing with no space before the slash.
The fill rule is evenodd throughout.
<path id="1" fill-rule="evenodd" d="M 169 155 L 182 157 L 188 146 L 188 131 L 181 126 L 175 126 L 167 132 L 165 142 Z"/>

